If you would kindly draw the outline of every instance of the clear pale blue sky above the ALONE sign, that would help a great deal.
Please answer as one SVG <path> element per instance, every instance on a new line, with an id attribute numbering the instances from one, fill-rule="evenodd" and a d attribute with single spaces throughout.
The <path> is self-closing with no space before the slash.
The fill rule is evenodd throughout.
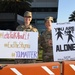
<path id="1" fill-rule="evenodd" d="M 68 22 L 70 14 L 75 10 L 75 0 L 59 0 L 58 23 Z"/>

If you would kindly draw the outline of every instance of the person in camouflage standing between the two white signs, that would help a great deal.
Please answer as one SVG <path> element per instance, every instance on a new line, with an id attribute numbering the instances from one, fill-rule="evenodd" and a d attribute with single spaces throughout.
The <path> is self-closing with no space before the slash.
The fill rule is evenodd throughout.
<path id="1" fill-rule="evenodd" d="M 53 61 L 53 48 L 52 48 L 52 25 L 53 17 L 45 18 L 45 27 L 46 30 L 40 36 L 40 45 L 43 48 L 43 62 Z"/>

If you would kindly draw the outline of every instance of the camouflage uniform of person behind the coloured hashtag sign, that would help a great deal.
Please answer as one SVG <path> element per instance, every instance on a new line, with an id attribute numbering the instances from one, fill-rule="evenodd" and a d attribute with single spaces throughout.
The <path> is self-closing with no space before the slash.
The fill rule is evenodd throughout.
<path id="1" fill-rule="evenodd" d="M 38 30 L 33 27 L 32 25 L 29 25 L 28 28 L 25 27 L 25 25 L 20 25 L 16 28 L 17 31 L 26 31 L 26 32 L 38 32 Z M 35 59 L 16 59 L 15 63 L 35 63 Z"/>

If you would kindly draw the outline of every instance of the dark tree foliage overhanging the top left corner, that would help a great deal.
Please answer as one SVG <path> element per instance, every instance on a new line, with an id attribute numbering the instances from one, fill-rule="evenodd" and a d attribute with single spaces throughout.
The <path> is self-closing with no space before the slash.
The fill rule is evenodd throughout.
<path id="1" fill-rule="evenodd" d="M 0 12 L 14 12 L 20 15 L 26 10 L 31 10 L 32 0 L 0 0 Z"/>

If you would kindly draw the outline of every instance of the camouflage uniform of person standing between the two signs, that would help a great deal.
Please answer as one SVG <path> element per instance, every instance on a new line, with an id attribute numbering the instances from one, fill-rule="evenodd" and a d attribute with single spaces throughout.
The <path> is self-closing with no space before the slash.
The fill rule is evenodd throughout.
<path id="1" fill-rule="evenodd" d="M 49 44 L 48 42 L 51 41 Z M 41 35 L 41 46 L 43 48 L 43 61 L 53 61 L 52 34 L 51 31 L 44 31 Z"/>

